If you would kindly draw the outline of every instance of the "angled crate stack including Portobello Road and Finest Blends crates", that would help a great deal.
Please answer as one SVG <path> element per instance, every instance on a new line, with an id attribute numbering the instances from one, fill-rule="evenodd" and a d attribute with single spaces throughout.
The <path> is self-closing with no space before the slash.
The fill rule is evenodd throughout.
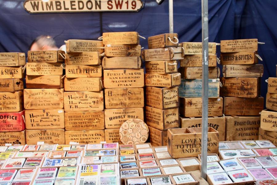
<path id="1" fill-rule="evenodd" d="M 183 47 L 178 47 L 178 34 L 161 34 L 148 38 L 143 50 L 146 84 L 146 123 L 153 146 L 167 145 L 167 130 L 179 128 L 179 88 L 181 74 L 178 60 Z"/>

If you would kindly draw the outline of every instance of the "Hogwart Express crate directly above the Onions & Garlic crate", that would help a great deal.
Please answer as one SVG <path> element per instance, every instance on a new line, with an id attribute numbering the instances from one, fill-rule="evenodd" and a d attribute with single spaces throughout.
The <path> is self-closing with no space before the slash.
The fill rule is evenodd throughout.
<path id="1" fill-rule="evenodd" d="M 64 129 L 63 109 L 25 110 L 27 130 Z"/>

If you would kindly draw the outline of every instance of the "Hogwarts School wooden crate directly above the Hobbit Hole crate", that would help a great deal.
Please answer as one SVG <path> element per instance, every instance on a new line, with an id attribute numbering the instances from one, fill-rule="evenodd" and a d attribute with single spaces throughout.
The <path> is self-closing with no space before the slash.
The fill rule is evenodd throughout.
<path id="1" fill-rule="evenodd" d="M 105 89 L 106 109 L 137 108 L 144 106 L 143 88 Z"/>

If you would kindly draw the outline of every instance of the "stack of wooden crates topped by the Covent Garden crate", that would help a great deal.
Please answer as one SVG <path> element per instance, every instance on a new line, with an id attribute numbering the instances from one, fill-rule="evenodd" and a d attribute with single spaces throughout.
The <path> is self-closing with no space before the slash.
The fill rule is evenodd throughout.
<path id="1" fill-rule="evenodd" d="M 226 115 L 226 141 L 258 139 L 263 97 L 260 77 L 263 65 L 257 64 L 257 39 L 222 40 L 220 63 L 223 65 L 223 113 Z"/>

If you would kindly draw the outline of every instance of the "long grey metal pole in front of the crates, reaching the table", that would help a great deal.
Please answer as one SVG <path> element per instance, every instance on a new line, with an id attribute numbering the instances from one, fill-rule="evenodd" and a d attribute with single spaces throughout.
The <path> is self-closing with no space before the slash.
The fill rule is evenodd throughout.
<path id="1" fill-rule="evenodd" d="M 202 4 L 202 141 L 201 141 L 201 177 L 207 179 L 208 151 L 208 0 Z"/>

